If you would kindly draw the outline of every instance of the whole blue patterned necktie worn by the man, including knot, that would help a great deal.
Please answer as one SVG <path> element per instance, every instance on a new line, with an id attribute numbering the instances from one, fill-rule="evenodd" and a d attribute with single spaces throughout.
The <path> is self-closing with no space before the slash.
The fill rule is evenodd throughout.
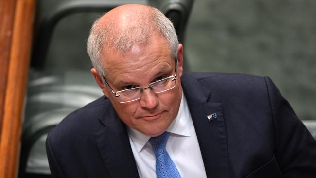
<path id="1" fill-rule="evenodd" d="M 157 178 L 181 178 L 175 163 L 166 151 L 166 144 L 170 133 L 164 132 L 158 137 L 151 137 L 149 142 L 156 155 Z"/>

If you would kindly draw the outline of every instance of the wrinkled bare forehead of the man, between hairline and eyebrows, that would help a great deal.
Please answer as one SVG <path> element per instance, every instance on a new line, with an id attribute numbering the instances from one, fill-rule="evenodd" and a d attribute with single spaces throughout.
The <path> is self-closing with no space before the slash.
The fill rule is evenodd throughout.
<path id="1" fill-rule="evenodd" d="M 101 59 L 108 73 L 107 78 L 114 81 L 155 75 L 170 71 L 174 66 L 169 44 L 161 36 L 150 38 L 146 44 L 133 44 L 124 53 L 107 51 Z"/>

